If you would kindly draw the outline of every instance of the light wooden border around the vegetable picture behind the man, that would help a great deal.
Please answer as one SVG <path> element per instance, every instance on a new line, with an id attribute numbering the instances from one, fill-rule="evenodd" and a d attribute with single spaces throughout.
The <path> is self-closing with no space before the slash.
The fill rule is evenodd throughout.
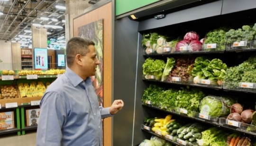
<path id="1" fill-rule="evenodd" d="M 73 20 L 73 36 L 78 36 L 78 28 L 91 22 L 103 19 L 103 106 L 112 104 L 112 2 L 86 13 Z M 111 146 L 112 119 L 103 120 L 103 143 Z"/>

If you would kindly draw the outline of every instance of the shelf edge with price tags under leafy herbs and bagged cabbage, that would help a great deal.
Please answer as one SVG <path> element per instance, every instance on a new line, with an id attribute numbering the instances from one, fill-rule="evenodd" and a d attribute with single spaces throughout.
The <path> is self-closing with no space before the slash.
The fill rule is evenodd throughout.
<path id="1" fill-rule="evenodd" d="M 165 112 L 168 112 L 170 114 L 179 115 L 179 116 L 189 118 L 189 119 L 192 119 L 192 120 L 196 120 L 196 121 L 199 121 L 199 122 L 211 124 L 213 126 L 219 126 L 219 118 L 210 118 L 208 120 L 208 119 L 205 119 L 205 118 L 201 118 L 199 116 L 199 113 L 196 113 L 196 112 L 193 112 L 192 116 L 188 116 L 187 114 L 183 114 L 181 112 L 178 112 L 177 108 L 175 109 L 175 107 L 174 108 L 169 108 L 169 109 L 161 109 L 159 107 L 155 107 L 155 106 L 148 105 L 148 104 L 143 104 L 143 106 L 153 108 L 153 109 L 157 109 L 157 110 L 161 110 L 161 111 L 165 111 Z"/>

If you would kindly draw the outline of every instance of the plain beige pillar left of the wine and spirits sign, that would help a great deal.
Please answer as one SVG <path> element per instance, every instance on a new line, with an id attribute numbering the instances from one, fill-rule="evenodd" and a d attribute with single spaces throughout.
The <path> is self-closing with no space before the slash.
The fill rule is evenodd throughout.
<path id="1" fill-rule="evenodd" d="M 12 69 L 21 70 L 20 43 L 11 43 Z"/>

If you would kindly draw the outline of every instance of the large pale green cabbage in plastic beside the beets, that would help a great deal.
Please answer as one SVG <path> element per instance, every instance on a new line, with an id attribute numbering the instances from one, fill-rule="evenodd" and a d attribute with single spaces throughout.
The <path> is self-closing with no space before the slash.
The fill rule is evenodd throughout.
<path id="1" fill-rule="evenodd" d="M 207 96 L 201 100 L 200 113 L 212 117 L 222 117 L 230 114 L 230 106 L 236 103 L 227 97 Z"/>

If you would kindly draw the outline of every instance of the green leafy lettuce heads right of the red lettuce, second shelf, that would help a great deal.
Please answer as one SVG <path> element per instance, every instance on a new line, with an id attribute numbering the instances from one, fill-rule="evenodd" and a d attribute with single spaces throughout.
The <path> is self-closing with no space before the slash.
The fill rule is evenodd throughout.
<path id="1" fill-rule="evenodd" d="M 215 58 L 210 61 L 206 57 L 197 57 L 191 73 L 195 77 L 195 83 L 200 79 L 223 81 L 227 68 L 220 59 Z"/>

